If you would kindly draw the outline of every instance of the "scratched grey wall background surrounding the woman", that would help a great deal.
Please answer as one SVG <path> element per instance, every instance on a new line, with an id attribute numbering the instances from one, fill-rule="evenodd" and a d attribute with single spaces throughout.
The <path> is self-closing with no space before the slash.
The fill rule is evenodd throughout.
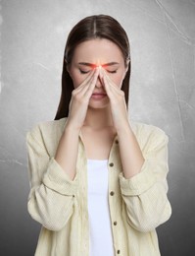
<path id="1" fill-rule="evenodd" d="M 195 1 L 0 4 L 0 255 L 33 255 L 40 225 L 26 210 L 25 134 L 54 118 L 68 32 L 85 16 L 101 13 L 118 19 L 131 43 L 131 118 L 170 137 L 172 216 L 158 228 L 162 255 L 195 255 Z"/>

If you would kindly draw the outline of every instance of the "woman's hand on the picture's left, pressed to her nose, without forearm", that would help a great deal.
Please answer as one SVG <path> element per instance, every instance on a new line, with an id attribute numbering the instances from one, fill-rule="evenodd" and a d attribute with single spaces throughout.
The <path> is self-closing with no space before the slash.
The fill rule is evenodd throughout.
<path id="1" fill-rule="evenodd" d="M 83 126 L 89 99 L 93 94 L 98 76 L 99 68 L 95 68 L 79 87 L 73 90 L 67 124 L 78 131 Z"/>

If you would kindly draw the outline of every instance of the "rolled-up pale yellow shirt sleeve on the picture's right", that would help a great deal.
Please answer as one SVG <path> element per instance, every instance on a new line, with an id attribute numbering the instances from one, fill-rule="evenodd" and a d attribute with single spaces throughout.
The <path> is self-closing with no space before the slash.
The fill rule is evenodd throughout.
<path id="1" fill-rule="evenodd" d="M 127 222 L 142 232 L 154 230 L 171 217 L 167 197 L 168 141 L 168 136 L 156 129 L 146 143 L 145 161 L 140 172 L 130 179 L 120 173 Z"/>

